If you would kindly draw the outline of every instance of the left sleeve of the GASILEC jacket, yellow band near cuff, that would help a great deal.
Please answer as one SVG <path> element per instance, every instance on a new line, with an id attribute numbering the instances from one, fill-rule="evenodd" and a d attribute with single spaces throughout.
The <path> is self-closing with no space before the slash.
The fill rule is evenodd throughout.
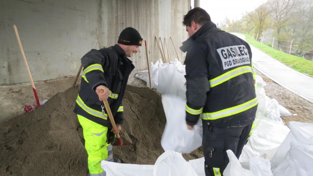
<path id="1" fill-rule="evenodd" d="M 210 90 L 207 57 L 208 48 L 204 40 L 194 41 L 186 54 L 186 123 L 190 126 L 198 122 Z"/>

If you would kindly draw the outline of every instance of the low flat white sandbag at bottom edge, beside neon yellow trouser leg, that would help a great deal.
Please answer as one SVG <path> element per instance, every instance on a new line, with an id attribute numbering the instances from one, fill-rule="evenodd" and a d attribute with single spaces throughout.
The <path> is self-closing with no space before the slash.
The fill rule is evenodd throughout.
<path id="1" fill-rule="evenodd" d="M 123 164 L 102 160 L 101 168 L 106 176 L 152 176 L 153 165 Z"/>

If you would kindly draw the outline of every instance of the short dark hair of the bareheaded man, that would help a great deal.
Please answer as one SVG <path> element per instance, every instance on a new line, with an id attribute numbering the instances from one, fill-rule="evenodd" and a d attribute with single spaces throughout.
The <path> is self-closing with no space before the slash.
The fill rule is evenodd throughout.
<path id="1" fill-rule="evenodd" d="M 190 27 L 192 21 L 203 25 L 211 21 L 211 17 L 203 8 L 195 7 L 189 10 L 189 12 L 184 16 L 182 25 Z"/>

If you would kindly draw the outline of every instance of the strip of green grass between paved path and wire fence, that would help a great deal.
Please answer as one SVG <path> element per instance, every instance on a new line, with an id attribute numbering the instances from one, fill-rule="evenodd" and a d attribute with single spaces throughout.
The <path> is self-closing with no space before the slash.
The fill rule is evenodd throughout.
<path id="1" fill-rule="evenodd" d="M 252 39 L 249 34 L 243 34 L 246 37 L 246 41 L 254 47 L 260 49 L 264 53 L 268 54 L 272 58 L 280 61 L 281 63 L 289 66 L 290 68 L 299 71 L 305 75 L 313 78 L 313 61 L 306 60 L 302 57 L 297 57 L 291 54 L 284 53 L 276 49 L 272 49 L 266 44 L 262 44 Z"/>

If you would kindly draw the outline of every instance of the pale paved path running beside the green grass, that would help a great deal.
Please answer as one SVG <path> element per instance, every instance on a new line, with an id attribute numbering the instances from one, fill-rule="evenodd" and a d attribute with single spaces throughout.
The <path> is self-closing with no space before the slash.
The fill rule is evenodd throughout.
<path id="1" fill-rule="evenodd" d="M 245 39 L 244 35 L 236 35 Z M 250 47 L 252 61 L 257 70 L 277 84 L 313 103 L 313 78 L 287 67 L 252 45 Z"/>

